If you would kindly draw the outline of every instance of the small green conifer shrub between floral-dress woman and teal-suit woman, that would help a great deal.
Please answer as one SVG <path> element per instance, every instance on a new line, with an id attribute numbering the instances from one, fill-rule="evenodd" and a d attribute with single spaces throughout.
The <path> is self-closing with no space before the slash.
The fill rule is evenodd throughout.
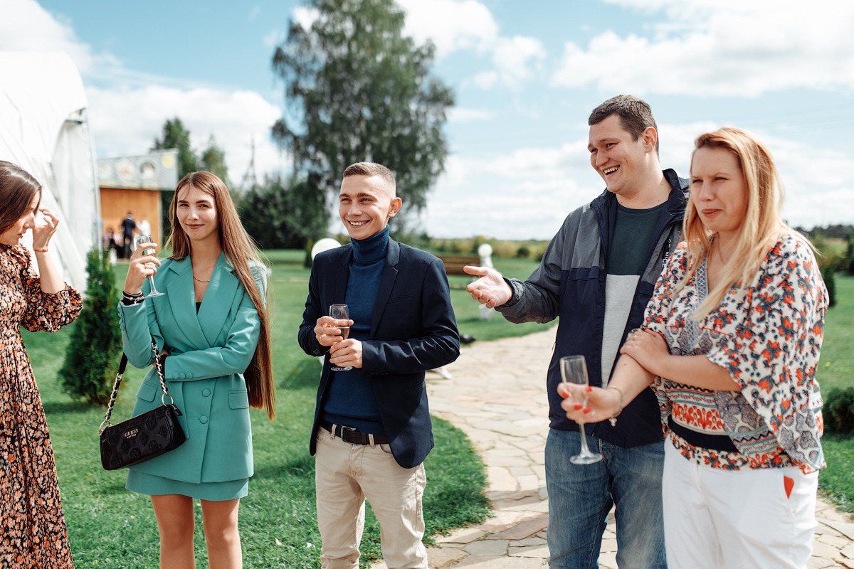
<path id="1" fill-rule="evenodd" d="M 121 353 L 119 293 L 108 253 L 92 249 L 86 258 L 86 299 L 77 319 L 65 362 L 59 370 L 62 388 L 74 399 L 104 405 L 113 390 Z"/>

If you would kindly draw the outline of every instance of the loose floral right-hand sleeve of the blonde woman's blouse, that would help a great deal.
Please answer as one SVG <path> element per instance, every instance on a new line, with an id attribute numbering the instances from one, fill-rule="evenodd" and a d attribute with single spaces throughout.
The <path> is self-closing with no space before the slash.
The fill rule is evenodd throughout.
<path id="1" fill-rule="evenodd" d="M 828 293 L 809 246 L 785 236 L 771 249 L 736 310 L 743 320 L 709 359 L 794 462 L 821 468 L 821 394 L 816 367 Z M 738 404 L 732 392 L 733 401 Z"/>

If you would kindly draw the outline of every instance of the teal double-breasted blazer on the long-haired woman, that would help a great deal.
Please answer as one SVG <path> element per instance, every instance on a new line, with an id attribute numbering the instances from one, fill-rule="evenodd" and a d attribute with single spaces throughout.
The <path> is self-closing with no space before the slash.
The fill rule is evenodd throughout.
<path id="1" fill-rule="evenodd" d="M 255 282 L 266 296 L 266 268 L 253 266 Z M 185 482 L 225 482 L 254 472 L 249 398 L 243 372 L 258 345 L 260 317 L 225 253 L 213 269 L 196 314 L 190 258 L 167 259 L 155 276 L 163 296 L 138 305 L 119 304 L 121 338 L 127 361 L 146 368 L 132 415 L 161 405 L 151 339 L 167 346 L 164 377 L 183 414 L 178 418 L 187 441 L 177 449 L 133 469 Z M 149 293 L 149 282 L 143 285 Z M 168 401 L 168 398 L 167 398 Z"/>

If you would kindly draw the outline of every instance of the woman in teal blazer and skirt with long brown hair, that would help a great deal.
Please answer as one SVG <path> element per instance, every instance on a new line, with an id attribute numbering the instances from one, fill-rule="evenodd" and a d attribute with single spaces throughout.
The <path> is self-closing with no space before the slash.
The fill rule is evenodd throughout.
<path id="1" fill-rule="evenodd" d="M 241 567 L 237 509 L 253 473 L 249 406 L 266 409 L 271 420 L 275 411 L 266 268 L 218 177 L 187 174 L 169 209 L 173 255 L 161 264 L 137 248 L 119 315 L 130 363 L 154 363 L 152 339 L 161 351 L 187 440 L 129 468 L 126 487 L 151 496 L 161 569 L 195 567 L 194 498 L 202 502 L 210 566 Z M 149 276 L 164 295 L 143 296 Z M 152 366 L 133 415 L 159 406 L 160 396 Z"/>

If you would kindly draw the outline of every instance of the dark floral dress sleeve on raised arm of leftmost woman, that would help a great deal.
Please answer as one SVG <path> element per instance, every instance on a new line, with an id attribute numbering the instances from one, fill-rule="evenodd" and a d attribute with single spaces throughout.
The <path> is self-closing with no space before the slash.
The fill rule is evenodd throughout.
<path id="1" fill-rule="evenodd" d="M 83 299 L 67 284 L 60 292 L 42 291 L 41 281 L 32 268 L 32 260 L 23 246 L 20 247 L 20 283 L 26 297 L 26 311 L 21 326 L 30 332 L 56 332 L 77 319 L 83 308 Z"/>

